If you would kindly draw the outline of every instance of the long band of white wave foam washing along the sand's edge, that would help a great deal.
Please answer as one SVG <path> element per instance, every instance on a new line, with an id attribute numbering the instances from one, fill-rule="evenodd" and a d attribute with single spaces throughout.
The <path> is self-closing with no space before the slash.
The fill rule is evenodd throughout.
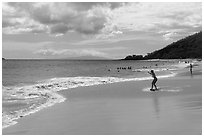
<path id="1" fill-rule="evenodd" d="M 175 73 L 169 75 L 158 76 L 158 78 L 167 78 L 175 76 Z M 43 108 L 52 106 L 56 103 L 61 103 L 66 100 L 63 96 L 57 92 L 60 90 L 82 87 L 82 86 L 93 86 L 99 84 L 108 84 L 124 81 L 141 81 L 150 80 L 152 77 L 142 78 L 117 78 L 117 77 L 65 77 L 65 78 L 52 78 L 44 81 L 39 81 L 39 84 L 28 85 L 23 87 L 3 87 L 3 94 L 6 96 L 15 95 L 15 98 L 19 99 L 35 99 L 35 98 L 46 98 L 47 102 L 41 105 L 33 105 L 29 108 L 19 110 L 15 115 L 4 114 L 3 115 L 3 128 L 10 125 L 14 125 L 22 116 L 30 115 Z"/>

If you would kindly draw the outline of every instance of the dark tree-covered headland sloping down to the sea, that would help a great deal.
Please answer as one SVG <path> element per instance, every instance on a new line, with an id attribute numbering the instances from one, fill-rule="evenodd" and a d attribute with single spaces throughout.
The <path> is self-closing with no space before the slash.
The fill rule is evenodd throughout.
<path id="1" fill-rule="evenodd" d="M 202 58 L 202 31 L 173 42 L 146 56 L 129 55 L 123 60 Z"/>

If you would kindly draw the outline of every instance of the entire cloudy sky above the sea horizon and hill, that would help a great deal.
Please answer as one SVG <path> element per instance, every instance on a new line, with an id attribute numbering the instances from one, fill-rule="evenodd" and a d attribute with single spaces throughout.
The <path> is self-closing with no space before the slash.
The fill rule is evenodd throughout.
<path id="1" fill-rule="evenodd" d="M 2 56 L 11 59 L 121 59 L 201 30 L 201 2 L 2 3 Z"/>

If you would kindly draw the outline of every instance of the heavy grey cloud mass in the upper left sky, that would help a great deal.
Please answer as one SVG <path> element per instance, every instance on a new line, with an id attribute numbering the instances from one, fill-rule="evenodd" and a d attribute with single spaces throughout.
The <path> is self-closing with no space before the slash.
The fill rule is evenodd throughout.
<path id="1" fill-rule="evenodd" d="M 25 3 L 3 4 L 3 33 L 49 33 L 76 31 L 99 34 L 109 21 L 111 10 L 120 3 Z"/>

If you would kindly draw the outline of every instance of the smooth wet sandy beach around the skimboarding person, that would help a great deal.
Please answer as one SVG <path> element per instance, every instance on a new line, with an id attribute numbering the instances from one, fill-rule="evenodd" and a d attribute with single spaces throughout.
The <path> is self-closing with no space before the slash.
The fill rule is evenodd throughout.
<path id="1" fill-rule="evenodd" d="M 202 133 L 202 77 L 131 81 L 61 91 L 67 100 L 18 120 L 4 135 L 186 135 Z"/>

